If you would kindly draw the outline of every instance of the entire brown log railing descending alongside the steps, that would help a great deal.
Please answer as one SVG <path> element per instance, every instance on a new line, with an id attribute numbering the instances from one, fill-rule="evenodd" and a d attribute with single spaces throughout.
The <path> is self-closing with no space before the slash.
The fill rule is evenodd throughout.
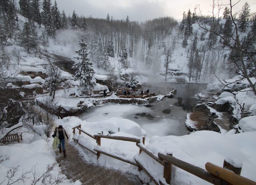
<path id="1" fill-rule="evenodd" d="M 91 135 L 90 133 L 84 131 L 81 129 L 81 125 L 78 125 L 76 127 L 73 127 L 73 133 L 76 133 L 76 129 L 79 130 L 79 134 L 85 133 L 92 139 L 95 139 L 97 141 L 97 144 L 100 146 L 101 145 L 101 138 L 106 138 L 106 139 L 116 139 L 116 140 L 121 140 L 121 141 L 130 141 L 130 142 L 135 142 L 136 146 L 140 149 L 139 154 L 143 151 L 145 152 L 148 156 L 150 156 L 152 159 L 163 165 L 164 167 L 164 174 L 163 177 L 166 179 L 166 183 L 170 184 L 171 182 L 171 177 L 172 177 L 172 165 L 183 169 L 184 171 L 187 171 L 188 173 L 191 173 L 200 179 L 203 179 L 209 183 L 216 184 L 216 185 L 256 185 L 256 182 L 247 179 L 245 177 L 240 176 L 242 168 L 236 168 L 229 164 L 227 161 L 224 160 L 224 165 L 223 167 L 216 166 L 212 163 L 206 163 L 205 169 L 202 169 L 200 167 L 197 167 L 195 165 L 192 165 L 190 163 L 187 163 L 185 161 L 182 161 L 180 159 L 177 159 L 176 157 L 172 156 L 172 153 L 170 154 L 161 154 L 158 153 L 158 155 L 154 154 L 152 151 L 148 150 L 144 144 L 145 144 L 145 137 L 142 137 L 142 139 L 138 139 L 135 137 L 122 137 L 122 136 L 112 136 L 112 135 Z M 88 149 L 88 147 L 85 147 L 81 143 L 79 143 L 78 139 L 74 139 L 79 145 L 84 147 L 85 149 Z M 142 140 L 142 143 L 141 143 Z M 114 154 L 110 154 L 107 151 L 104 151 L 103 149 L 94 149 L 92 151 L 91 149 L 88 149 L 88 151 L 94 153 L 97 155 L 97 159 L 100 157 L 100 154 L 108 155 L 109 157 L 112 157 L 114 159 L 118 159 L 120 161 L 124 161 L 126 163 L 129 163 L 131 165 L 137 166 L 138 170 L 141 171 L 143 170 L 149 177 L 150 179 L 156 184 L 156 185 L 162 185 L 163 183 L 161 181 L 157 181 L 154 179 L 154 177 L 150 174 L 148 169 L 146 169 L 140 161 L 134 159 L 134 161 L 130 161 L 127 159 L 123 159 L 122 157 Z"/>

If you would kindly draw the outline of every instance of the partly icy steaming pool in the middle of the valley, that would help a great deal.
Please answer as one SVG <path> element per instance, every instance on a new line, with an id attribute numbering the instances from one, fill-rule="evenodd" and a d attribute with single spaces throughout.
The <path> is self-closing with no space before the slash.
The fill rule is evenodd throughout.
<path id="1" fill-rule="evenodd" d="M 172 88 L 177 88 L 179 99 L 163 99 L 149 105 L 114 104 L 99 105 L 86 109 L 80 114 L 80 118 L 86 121 L 102 121 L 111 117 L 126 118 L 135 121 L 140 127 L 146 130 L 147 137 L 153 135 L 186 135 L 189 131 L 184 125 L 187 111 L 182 101 L 188 101 L 188 97 L 204 90 L 206 84 L 178 84 L 158 83 L 150 86 L 143 85 L 143 90 L 150 90 L 150 93 L 169 93 Z"/>

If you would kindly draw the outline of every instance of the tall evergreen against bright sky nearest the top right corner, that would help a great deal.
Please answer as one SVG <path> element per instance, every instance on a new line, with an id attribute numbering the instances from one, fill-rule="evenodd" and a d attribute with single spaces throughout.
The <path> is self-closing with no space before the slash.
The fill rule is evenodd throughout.
<path id="1" fill-rule="evenodd" d="M 248 27 L 249 20 L 250 20 L 250 5 L 247 2 L 245 2 L 242 8 L 242 12 L 239 14 L 238 21 L 237 21 L 238 28 L 240 28 L 242 32 L 245 32 L 246 28 Z"/>

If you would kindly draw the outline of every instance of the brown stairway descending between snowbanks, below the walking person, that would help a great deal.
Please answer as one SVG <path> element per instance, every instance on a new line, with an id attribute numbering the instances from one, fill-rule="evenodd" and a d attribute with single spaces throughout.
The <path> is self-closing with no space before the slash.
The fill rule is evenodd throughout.
<path id="1" fill-rule="evenodd" d="M 68 179 L 80 180 L 83 185 L 141 185 L 140 180 L 133 174 L 123 174 L 114 169 L 86 163 L 79 152 L 66 143 L 66 154 L 59 154 L 56 150 L 56 160 Z"/>

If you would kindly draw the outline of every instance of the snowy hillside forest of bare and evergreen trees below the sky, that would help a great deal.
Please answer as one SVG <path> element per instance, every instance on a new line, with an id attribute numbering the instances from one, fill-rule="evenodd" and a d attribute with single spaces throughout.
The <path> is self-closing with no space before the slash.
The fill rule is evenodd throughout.
<path id="1" fill-rule="evenodd" d="M 15 8 L 12 0 L 3 0 L 0 4 L 1 45 L 20 44 L 35 56 L 40 57 L 42 47 L 48 47 L 48 38 L 55 40 L 63 30 L 81 30 L 90 51 L 88 57 L 106 71 L 113 67 L 109 58 L 112 57 L 123 69 L 136 66 L 131 60 L 141 61 L 154 72 L 165 69 L 167 78 L 176 70 L 169 63 L 170 56 L 166 56 L 167 51 L 171 51 L 172 59 L 178 52 L 186 60 L 189 81 L 212 82 L 216 74 L 224 75 L 223 70 L 229 78 L 246 76 L 245 71 L 248 78 L 256 73 L 256 18 L 250 13 L 248 3 L 235 16 L 230 7 L 222 7 L 224 13 L 218 18 L 189 9 L 183 12 L 180 23 L 170 17 L 146 22 L 131 21 L 129 16 L 115 20 L 111 12 L 105 19 L 78 15 L 76 10 L 67 16 L 64 10 L 58 9 L 56 1 L 51 0 L 19 0 L 18 5 L 19 9 Z M 18 14 L 26 18 L 24 25 L 19 25 Z M 198 24 L 205 28 L 199 28 Z M 41 25 L 44 31 L 38 33 L 36 27 Z M 168 59 L 167 63 L 161 59 L 162 55 Z"/>

